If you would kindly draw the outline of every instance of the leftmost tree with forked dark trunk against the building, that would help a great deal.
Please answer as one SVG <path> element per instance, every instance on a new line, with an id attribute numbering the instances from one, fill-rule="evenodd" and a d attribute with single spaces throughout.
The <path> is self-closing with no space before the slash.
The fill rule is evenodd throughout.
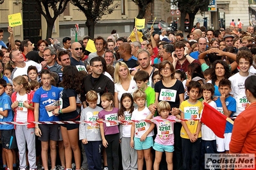
<path id="1" fill-rule="evenodd" d="M 46 38 L 50 38 L 55 20 L 64 12 L 69 0 L 35 0 L 35 2 L 37 2 L 35 8 L 37 8 L 38 12 L 44 16 L 47 22 Z M 49 9 L 53 10 L 53 16 Z"/>

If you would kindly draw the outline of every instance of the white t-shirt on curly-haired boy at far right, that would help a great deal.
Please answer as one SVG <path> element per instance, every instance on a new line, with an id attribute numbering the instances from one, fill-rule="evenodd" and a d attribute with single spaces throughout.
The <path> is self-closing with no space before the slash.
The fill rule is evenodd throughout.
<path id="1" fill-rule="evenodd" d="M 249 73 L 248 76 L 244 77 L 240 75 L 240 73 L 235 73 L 235 75 L 232 75 L 229 77 L 228 80 L 231 81 L 231 89 L 230 92 L 231 95 L 235 98 L 236 104 L 236 112 L 234 112 L 234 116 L 238 116 L 241 112 L 244 111 L 246 105 L 248 104 L 248 100 L 245 95 L 245 87 L 244 82 L 247 79 L 247 77 L 253 75 L 252 73 Z"/>

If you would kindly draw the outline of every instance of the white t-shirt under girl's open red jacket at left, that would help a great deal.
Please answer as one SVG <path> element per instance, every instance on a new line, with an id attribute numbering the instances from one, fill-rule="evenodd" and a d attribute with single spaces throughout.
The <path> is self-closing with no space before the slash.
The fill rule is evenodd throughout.
<path id="1" fill-rule="evenodd" d="M 16 121 L 27 121 L 28 108 L 24 107 L 23 102 L 28 100 L 28 94 L 21 96 L 17 93 L 16 100 L 19 101 L 18 107 L 16 108 Z"/>

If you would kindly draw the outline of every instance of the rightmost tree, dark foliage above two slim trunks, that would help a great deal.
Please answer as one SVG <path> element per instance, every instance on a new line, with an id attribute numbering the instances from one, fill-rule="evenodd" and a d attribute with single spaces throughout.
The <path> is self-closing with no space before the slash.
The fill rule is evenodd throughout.
<path id="1" fill-rule="evenodd" d="M 205 12 L 210 0 L 166 0 L 169 3 L 175 4 L 180 10 L 180 30 L 184 29 L 184 22 L 186 14 L 189 14 L 189 30 L 192 29 L 194 17 L 199 11 Z"/>

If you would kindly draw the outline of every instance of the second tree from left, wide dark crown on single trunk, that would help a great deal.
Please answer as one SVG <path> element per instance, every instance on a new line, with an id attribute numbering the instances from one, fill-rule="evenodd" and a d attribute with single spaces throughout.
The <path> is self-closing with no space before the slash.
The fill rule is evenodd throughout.
<path id="1" fill-rule="evenodd" d="M 87 18 L 85 26 L 88 27 L 88 35 L 94 38 L 94 27 L 97 20 L 101 19 L 103 15 L 108 15 L 119 6 L 114 4 L 114 0 L 71 0 L 74 6 L 85 14 Z"/>

